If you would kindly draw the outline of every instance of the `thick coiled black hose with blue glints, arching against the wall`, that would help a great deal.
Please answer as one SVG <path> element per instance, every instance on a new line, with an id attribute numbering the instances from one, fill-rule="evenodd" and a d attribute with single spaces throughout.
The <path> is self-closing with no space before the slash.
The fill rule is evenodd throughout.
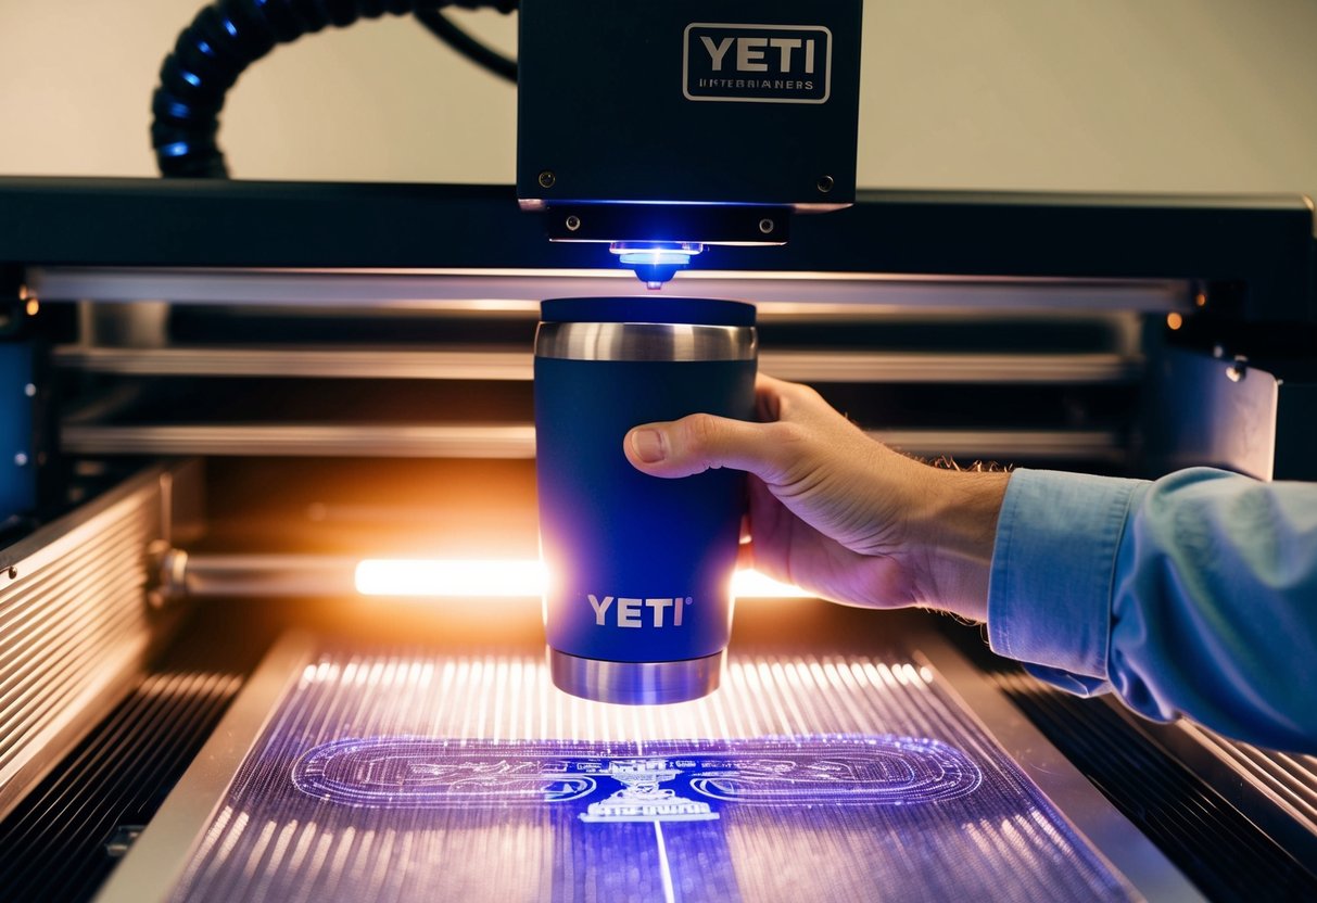
<path id="1" fill-rule="evenodd" d="M 151 97 L 151 145 L 161 174 L 225 179 L 216 142 L 220 109 L 248 66 L 277 45 L 329 25 L 358 18 L 407 16 L 419 8 L 494 8 L 507 13 L 519 0 L 216 0 L 178 36 L 161 66 Z"/>

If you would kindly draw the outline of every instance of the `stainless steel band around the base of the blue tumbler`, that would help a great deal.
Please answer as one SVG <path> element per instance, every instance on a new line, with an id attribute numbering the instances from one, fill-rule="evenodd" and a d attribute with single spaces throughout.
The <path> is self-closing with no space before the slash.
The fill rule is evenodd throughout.
<path id="1" fill-rule="evenodd" d="M 598 703 L 685 703 L 718 688 L 726 652 L 677 662 L 610 662 L 549 649 L 553 686 Z"/>

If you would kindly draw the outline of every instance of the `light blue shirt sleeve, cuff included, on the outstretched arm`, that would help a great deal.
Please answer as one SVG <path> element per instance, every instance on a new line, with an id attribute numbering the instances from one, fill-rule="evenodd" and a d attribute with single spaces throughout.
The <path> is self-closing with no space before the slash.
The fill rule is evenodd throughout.
<path id="1" fill-rule="evenodd" d="M 1073 692 L 1317 752 L 1317 484 L 1018 470 L 988 637 Z"/>

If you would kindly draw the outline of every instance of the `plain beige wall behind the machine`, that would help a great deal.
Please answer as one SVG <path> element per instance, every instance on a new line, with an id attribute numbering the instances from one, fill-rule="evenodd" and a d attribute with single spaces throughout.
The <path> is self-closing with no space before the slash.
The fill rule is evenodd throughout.
<path id="1" fill-rule="evenodd" d="M 0 174 L 154 175 L 150 92 L 200 5 L 0 0 Z M 1317 194 L 1317 0 L 864 12 L 864 186 Z M 515 14 L 457 17 L 515 51 Z M 221 122 L 240 178 L 514 178 L 515 88 L 410 20 L 277 49 Z"/>

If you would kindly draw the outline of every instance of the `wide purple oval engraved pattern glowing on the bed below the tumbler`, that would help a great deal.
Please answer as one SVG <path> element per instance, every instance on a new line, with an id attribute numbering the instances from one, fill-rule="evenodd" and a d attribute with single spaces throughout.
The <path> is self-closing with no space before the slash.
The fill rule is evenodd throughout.
<path id="1" fill-rule="evenodd" d="M 614 788 L 643 758 L 709 799 L 751 806 L 913 806 L 973 792 L 982 773 L 959 749 L 917 737 L 832 736 L 648 744 L 605 758 L 573 742 L 470 744 L 425 737 L 336 740 L 292 767 L 308 796 L 375 808 L 497 808 L 568 803 Z"/>

